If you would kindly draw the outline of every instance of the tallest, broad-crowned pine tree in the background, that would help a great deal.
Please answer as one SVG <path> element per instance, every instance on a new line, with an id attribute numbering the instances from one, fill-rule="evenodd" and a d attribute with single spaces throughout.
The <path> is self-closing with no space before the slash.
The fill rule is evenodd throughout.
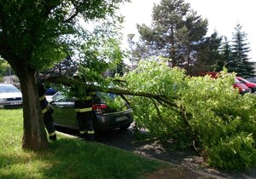
<path id="1" fill-rule="evenodd" d="M 140 50 L 148 56 L 166 57 L 170 66 L 188 69 L 195 62 L 198 44 L 207 33 L 207 20 L 183 0 L 162 0 L 154 5 L 152 17 L 151 26 L 137 25 Z"/>

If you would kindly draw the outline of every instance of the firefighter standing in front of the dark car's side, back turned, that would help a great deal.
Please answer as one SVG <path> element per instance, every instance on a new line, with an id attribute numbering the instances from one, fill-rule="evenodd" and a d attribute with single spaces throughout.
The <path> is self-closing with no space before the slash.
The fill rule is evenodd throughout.
<path id="1" fill-rule="evenodd" d="M 80 72 L 75 72 L 73 79 L 85 83 L 84 75 L 82 75 Z M 72 88 L 72 93 L 75 97 L 74 108 L 79 124 L 79 137 L 88 141 L 95 141 L 92 101 L 96 93 L 84 89 L 84 87 L 79 84 L 74 85 Z"/>

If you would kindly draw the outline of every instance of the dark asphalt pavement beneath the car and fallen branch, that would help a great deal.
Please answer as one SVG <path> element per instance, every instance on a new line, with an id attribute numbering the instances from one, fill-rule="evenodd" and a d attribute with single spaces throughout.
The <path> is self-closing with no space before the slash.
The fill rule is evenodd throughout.
<path id="1" fill-rule="evenodd" d="M 63 128 L 56 128 L 56 130 L 72 136 L 77 136 L 78 134 L 76 130 Z M 132 127 L 127 130 L 112 130 L 97 135 L 96 141 L 146 157 L 183 166 L 185 169 L 196 172 L 201 176 L 207 176 L 207 178 L 256 179 L 256 169 L 233 172 L 216 170 L 207 166 L 197 153 L 191 150 L 177 150 L 173 148 L 172 141 L 166 141 L 166 144 L 163 145 L 157 140 L 145 140 L 145 137 L 143 137 L 143 140 L 140 140 L 138 136 L 147 136 L 145 130 L 139 130 L 137 135 L 134 134 L 135 130 Z"/>

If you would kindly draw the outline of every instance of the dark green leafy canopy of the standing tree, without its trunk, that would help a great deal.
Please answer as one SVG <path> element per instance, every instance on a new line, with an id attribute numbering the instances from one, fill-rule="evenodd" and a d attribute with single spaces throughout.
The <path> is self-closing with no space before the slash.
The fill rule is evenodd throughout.
<path id="1" fill-rule="evenodd" d="M 86 39 L 80 20 L 89 22 L 110 16 L 120 20 L 113 13 L 122 2 L 125 0 L 1 1 L 1 55 L 12 61 L 11 65 L 18 58 L 37 70 L 48 68 L 74 53 L 81 43 L 74 39 Z M 14 57 L 10 53 L 16 58 L 10 58 Z"/>

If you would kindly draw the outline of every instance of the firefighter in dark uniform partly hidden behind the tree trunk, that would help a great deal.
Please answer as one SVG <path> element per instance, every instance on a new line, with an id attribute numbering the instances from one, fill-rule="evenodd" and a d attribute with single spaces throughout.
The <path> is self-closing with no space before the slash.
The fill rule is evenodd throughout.
<path id="1" fill-rule="evenodd" d="M 55 127 L 53 124 L 53 118 L 52 118 L 52 109 L 49 107 L 49 103 L 45 98 L 45 88 L 44 84 L 41 84 L 38 89 L 38 95 L 39 95 L 39 101 L 42 108 L 42 113 L 44 115 L 44 125 L 45 128 L 49 134 L 49 140 L 55 141 L 57 139 L 56 133 L 55 133 Z"/>

